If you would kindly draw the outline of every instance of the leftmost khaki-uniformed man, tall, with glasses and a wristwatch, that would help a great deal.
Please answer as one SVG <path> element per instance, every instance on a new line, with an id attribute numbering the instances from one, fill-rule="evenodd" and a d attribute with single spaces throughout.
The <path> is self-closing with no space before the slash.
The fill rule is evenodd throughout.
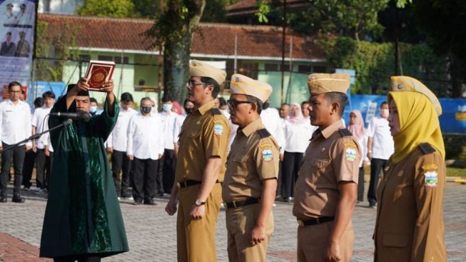
<path id="1" fill-rule="evenodd" d="M 226 72 L 191 61 L 189 73 L 186 87 L 194 110 L 181 126 L 175 184 L 165 210 L 173 216 L 179 199 L 178 261 L 217 261 L 216 224 L 230 126 L 213 99 Z"/>

